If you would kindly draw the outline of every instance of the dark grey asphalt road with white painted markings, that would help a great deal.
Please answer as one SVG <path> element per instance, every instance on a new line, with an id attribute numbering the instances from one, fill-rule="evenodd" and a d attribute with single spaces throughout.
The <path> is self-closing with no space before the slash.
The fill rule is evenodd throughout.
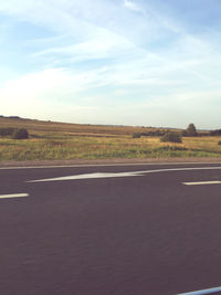
<path id="1" fill-rule="evenodd" d="M 219 181 L 219 164 L 0 169 L 0 294 L 221 286 Z"/>

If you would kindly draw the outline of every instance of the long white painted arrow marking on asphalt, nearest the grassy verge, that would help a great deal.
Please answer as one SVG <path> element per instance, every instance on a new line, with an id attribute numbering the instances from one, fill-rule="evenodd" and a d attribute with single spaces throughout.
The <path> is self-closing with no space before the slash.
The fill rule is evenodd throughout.
<path id="1" fill-rule="evenodd" d="M 62 180 L 76 180 L 76 179 L 92 179 L 92 178 L 109 178 L 109 177 L 133 177 L 144 176 L 146 173 L 158 173 L 158 172 L 170 172 L 170 171 L 191 171 L 191 170 L 221 170 L 221 167 L 192 167 L 192 168 L 169 168 L 169 169 L 156 169 L 156 170 L 144 170 L 144 171 L 129 171 L 129 172 L 95 172 L 86 175 L 74 175 L 65 177 L 56 177 L 49 179 L 30 180 L 27 182 L 45 182 L 45 181 L 62 181 Z"/>

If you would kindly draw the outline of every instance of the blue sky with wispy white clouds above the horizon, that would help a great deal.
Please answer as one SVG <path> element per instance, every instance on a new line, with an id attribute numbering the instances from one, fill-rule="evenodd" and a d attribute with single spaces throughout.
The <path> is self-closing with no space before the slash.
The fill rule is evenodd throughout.
<path id="1" fill-rule="evenodd" d="M 0 115 L 221 128 L 220 0 L 0 1 Z"/>

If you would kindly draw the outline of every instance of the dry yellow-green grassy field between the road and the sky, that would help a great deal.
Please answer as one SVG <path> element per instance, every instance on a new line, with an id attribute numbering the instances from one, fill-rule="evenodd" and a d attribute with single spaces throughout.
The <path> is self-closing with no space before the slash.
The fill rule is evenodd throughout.
<path id="1" fill-rule="evenodd" d="M 221 137 L 183 137 L 182 144 L 160 143 L 159 137 L 133 138 L 154 128 L 93 126 L 0 118 L 0 127 L 27 128 L 29 139 L 0 137 L 0 161 L 46 159 L 116 159 L 221 157 Z"/>

